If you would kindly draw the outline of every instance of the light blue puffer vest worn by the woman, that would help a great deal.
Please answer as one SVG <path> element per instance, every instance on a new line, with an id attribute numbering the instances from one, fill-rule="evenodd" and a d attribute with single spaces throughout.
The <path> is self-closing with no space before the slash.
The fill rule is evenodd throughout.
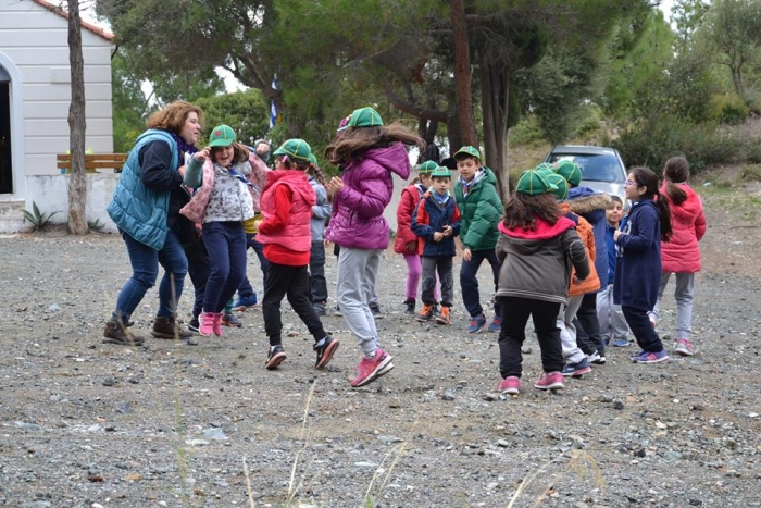
<path id="1" fill-rule="evenodd" d="M 170 145 L 172 160 L 166 161 L 165 171 L 176 171 L 179 166 L 177 143 L 164 131 L 149 129 L 135 143 L 124 164 L 113 198 L 107 208 L 109 216 L 126 234 L 155 250 L 161 250 L 166 240 L 169 225 L 166 218 L 170 207 L 171 188 L 148 187 L 142 178 L 140 150 L 152 141 Z M 178 183 L 182 176 L 177 173 Z"/>

